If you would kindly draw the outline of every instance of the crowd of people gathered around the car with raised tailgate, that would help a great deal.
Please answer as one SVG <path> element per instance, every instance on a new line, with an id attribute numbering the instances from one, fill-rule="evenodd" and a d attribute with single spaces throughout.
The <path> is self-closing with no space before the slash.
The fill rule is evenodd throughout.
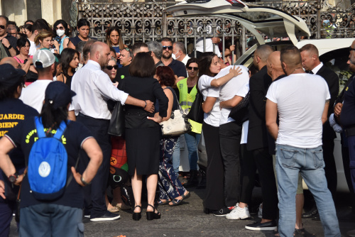
<path id="1" fill-rule="evenodd" d="M 234 45 L 227 45 L 225 60 L 198 48 L 195 58 L 170 38 L 129 47 L 115 26 L 101 42 L 89 37 L 84 18 L 75 37 L 63 20 L 53 28 L 44 19 L 27 21 L 16 35 L 14 28 L 0 16 L 0 236 L 9 236 L 13 213 L 20 236 L 83 236 L 83 216 L 114 221 L 121 209 L 131 209 L 135 221 L 144 207 L 146 219 L 160 219 L 157 206 L 181 204 L 190 187 L 205 189 L 204 213 L 249 219 L 256 172 L 261 219 L 246 229 L 303 236 L 302 218 L 313 218 L 322 221 L 324 236 L 341 236 L 334 131 L 342 134 L 354 194 L 355 88 L 352 76 L 339 94 L 339 78 L 315 45 L 280 51 L 259 45 L 249 69 L 233 65 Z M 209 39 L 209 48 L 219 40 Z M 352 73 L 354 50 L 355 41 Z M 182 136 L 163 136 L 159 123 L 177 109 L 190 111 L 198 95 L 202 121 L 190 120 L 192 130 Z M 124 113 L 120 136 L 109 133 L 114 113 Z M 197 165 L 202 136 L 206 167 Z M 43 137 L 58 139 L 67 153 L 65 191 L 50 199 L 33 192 L 29 165 Z M 186 183 L 179 180 L 184 140 Z M 55 170 L 47 164 L 38 168 L 41 177 Z M 302 179 L 312 200 L 303 196 Z M 314 207 L 302 214 L 305 201 Z"/>

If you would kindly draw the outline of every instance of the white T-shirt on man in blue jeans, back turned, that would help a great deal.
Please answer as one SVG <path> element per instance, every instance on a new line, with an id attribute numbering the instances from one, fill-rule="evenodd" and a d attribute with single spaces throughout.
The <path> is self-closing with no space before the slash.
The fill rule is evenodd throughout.
<path id="1" fill-rule="evenodd" d="M 322 145 L 322 114 L 325 101 L 330 99 L 322 77 L 307 73 L 283 77 L 271 84 L 266 98 L 278 104 L 277 144 L 297 148 Z"/>

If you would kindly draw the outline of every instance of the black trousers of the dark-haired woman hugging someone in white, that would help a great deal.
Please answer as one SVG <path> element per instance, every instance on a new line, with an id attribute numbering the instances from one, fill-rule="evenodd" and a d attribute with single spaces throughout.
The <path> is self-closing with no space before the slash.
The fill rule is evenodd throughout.
<path id="1" fill-rule="evenodd" d="M 202 123 L 207 152 L 206 197 L 204 208 L 219 210 L 224 204 L 224 168 L 219 148 L 219 127 Z"/>

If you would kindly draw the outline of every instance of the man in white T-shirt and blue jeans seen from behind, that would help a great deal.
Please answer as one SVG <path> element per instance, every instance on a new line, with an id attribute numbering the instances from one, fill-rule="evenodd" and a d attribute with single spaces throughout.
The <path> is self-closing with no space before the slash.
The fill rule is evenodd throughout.
<path id="1" fill-rule="evenodd" d="M 280 59 L 288 77 L 273 82 L 266 94 L 266 126 L 276 140 L 278 231 L 282 237 L 293 236 L 300 172 L 315 197 L 324 236 L 341 236 L 322 154 L 322 124 L 327 121 L 330 99 L 327 82 L 304 72 L 300 51 L 295 46 L 283 48 Z"/>

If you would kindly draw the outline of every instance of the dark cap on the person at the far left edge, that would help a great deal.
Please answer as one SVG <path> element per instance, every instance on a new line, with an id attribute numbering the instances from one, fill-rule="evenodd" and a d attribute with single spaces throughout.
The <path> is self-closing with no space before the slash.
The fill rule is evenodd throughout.
<path id="1" fill-rule="evenodd" d="M 11 87 L 18 83 L 26 72 L 21 69 L 15 69 L 9 63 L 0 65 L 0 85 L 4 87 Z"/>

